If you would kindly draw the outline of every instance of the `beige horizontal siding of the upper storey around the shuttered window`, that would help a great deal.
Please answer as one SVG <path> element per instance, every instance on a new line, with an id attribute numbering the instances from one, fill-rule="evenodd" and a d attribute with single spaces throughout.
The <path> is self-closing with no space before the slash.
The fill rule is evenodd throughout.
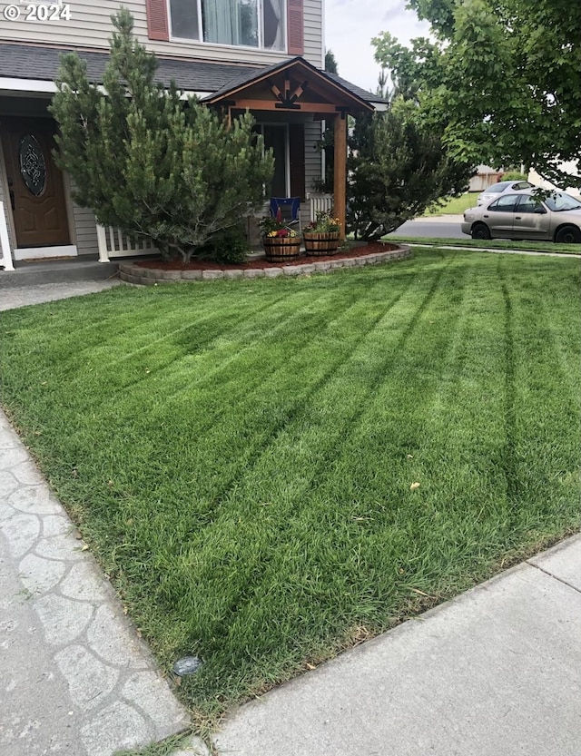
<path id="1" fill-rule="evenodd" d="M 58 21 L 18 21 L 0 25 L 0 40 L 11 42 L 72 45 L 84 48 L 108 49 L 113 31 L 111 15 L 121 6 L 128 8 L 134 19 L 134 32 L 153 53 L 172 57 L 198 58 L 208 61 L 230 61 L 248 64 L 273 64 L 288 57 L 271 50 L 254 50 L 196 42 L 150 40 L 147 35 L 147 16 L 143 2 L 111 2 L 94 5 L 87 0 L 71 4 L 71 19 Z M 25 6 L 23 6 L 23 14 Z M 304 0 L 305 49 L 304 58 L 322 67 L 322 0 Z"/>

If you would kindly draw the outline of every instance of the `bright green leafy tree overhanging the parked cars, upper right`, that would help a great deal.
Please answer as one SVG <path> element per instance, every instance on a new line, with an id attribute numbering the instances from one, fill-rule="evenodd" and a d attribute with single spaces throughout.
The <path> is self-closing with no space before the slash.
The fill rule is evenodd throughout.
<path id="1" fill-rule="evenodd" d="M 434 42 L 373 40 L 376 60 L 443 133 L 450 154 L 524 163 L 581 186 L 581 6 L 570 0 L 409 0 Z M 573 172 L 563 162 L 572 162 Z"/>

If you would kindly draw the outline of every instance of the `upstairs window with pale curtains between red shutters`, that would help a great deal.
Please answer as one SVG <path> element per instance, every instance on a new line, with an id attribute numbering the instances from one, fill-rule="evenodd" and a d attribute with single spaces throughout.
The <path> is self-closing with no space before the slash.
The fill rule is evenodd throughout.
<path id="1" fill-rule="evenodd" d="M 284 50 L 285 0 L 169 0 L 172 36 Z"/>

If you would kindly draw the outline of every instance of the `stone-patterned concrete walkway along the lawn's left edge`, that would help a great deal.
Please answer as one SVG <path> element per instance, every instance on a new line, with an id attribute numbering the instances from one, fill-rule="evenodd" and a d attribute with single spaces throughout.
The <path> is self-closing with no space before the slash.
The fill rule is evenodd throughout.
<path id="1" fill-rule="evenodd" d="M 0 753 L 112 756 L 188 727 L 0 412 Z M 193 741 L 192 754 L 207 752 Z"/>

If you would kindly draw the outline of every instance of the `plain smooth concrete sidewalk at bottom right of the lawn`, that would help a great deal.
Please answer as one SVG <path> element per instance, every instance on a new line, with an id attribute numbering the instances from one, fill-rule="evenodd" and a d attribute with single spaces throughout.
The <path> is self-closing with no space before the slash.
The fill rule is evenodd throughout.
<path id="1" fill-rule="evenodd" d="M 581 536 L 232 712 L 223 756 L 579 756 Z"/>

